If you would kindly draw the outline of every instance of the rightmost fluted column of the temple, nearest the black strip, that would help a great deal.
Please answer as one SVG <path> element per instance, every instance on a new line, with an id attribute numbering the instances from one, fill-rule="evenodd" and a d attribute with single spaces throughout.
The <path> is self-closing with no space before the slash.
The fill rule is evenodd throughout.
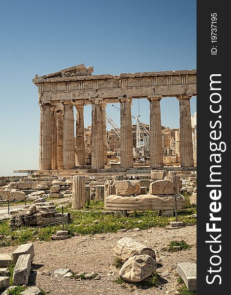
<path id="1" fill-rule="evenodd" d="M 180 164 L 181 167 L 193 167 L 193 139 L 190 111 L 190 98 L 180 95 L 177 97 L 180 104 Z"/>

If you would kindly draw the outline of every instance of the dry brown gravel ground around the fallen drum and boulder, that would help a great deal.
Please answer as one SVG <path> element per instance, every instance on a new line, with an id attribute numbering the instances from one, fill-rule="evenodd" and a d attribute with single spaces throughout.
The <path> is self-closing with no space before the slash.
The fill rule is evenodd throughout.
<path id="1" fill-rule="evenodd" d="M 175 295 L 179 288 L 177 283 L 177 263 L 196 263 L 197 226 L 170 229 L 151 228 L 142 231 L 125 233 L 74 236 L 67 240 L 34 242 L 35 256 L 30 285 L 36 285 L 51 295 Z M 114 281 L 118 278 L 119 269 L 113 266 L 113 247 L 117 240 L 129 236 L 155 250 L 157 262 L 162 266 L 157 269 L 164 278 L 165 284 L 158 288 L 131 289 L 129 285 L 119 285 Z M 185 240 L 192 245 L 189 250 L 167 252 L 161 250 L 172 240 Z M 1 248 L 1 253 L 11 253 L 17 246 Z M 74 272 L 98 272 L 100 280 L 81 280 L 63 278 L 54 275 L 58 268 L 70 268 Z M 110 270 L 115 275 L 107 275 Z M 44 275 L 42 272 L 50 272 Z"/>

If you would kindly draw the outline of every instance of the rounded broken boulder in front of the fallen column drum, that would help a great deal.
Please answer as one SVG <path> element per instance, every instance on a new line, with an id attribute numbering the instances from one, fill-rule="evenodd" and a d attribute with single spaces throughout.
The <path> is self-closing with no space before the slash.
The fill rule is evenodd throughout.
<path id="1" fill-rule="evenodd" d="M 119 276 L 125 281 L 140 282 L 157 269 L 157 262 L 149 255 L 130 257 L 121 267 Z"/>

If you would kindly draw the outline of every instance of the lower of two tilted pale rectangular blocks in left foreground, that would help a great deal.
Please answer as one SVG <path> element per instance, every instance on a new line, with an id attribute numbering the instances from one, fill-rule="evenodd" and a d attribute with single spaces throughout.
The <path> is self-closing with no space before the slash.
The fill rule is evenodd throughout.
<path id="1" fill-rule="evenodd" d="M 13 282 L 15 285 L 28 284 L 31 266 L 31 254 L 19 256 L 13 272 Z"/>

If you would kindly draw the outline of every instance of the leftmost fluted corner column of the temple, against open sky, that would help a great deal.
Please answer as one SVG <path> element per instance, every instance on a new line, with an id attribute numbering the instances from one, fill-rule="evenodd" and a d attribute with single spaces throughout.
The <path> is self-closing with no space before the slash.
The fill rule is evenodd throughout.
<path id="1" fill-rule="evenodd" d="M 51 170 L 51 104 L 40 107 L 39 170 Z"/>

